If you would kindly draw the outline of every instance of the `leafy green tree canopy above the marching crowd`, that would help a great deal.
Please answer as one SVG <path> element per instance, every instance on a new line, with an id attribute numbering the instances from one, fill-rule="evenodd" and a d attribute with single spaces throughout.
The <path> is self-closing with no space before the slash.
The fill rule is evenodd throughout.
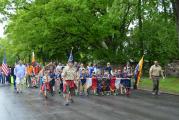
<path id="1" fill-rule="evenodd" d="M 14 12 L 9 13 L 8 8 Z M 179 58 L 174 0 L 4 0 L 9 62 L 76 61 L 114 64 Z M 2 51 L 1 51 L 2 53 Z"/>

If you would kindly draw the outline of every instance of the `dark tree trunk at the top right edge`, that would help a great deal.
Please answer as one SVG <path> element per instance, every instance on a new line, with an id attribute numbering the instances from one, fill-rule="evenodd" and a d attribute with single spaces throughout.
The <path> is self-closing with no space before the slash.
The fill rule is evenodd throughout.
<path id="1" fill-rule="evenodd" d="M 176 7 L 176 26 L 177 26 L 178 47 L 179 47 L 179 0 L 175 1 L 175 7 Z"/>

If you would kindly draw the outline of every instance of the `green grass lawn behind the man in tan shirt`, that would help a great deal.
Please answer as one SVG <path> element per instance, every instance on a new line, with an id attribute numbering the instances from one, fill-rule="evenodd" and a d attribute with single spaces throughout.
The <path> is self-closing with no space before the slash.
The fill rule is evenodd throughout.
<path id="1" fill-rule="evenodd" d="M 147 77 L 141 78 L 139 88 L 152 90 L 152 80 Z M 168 93 L 179 94 L 179 78 L 168 77 L 160 79 L 160 90 Z"/>

